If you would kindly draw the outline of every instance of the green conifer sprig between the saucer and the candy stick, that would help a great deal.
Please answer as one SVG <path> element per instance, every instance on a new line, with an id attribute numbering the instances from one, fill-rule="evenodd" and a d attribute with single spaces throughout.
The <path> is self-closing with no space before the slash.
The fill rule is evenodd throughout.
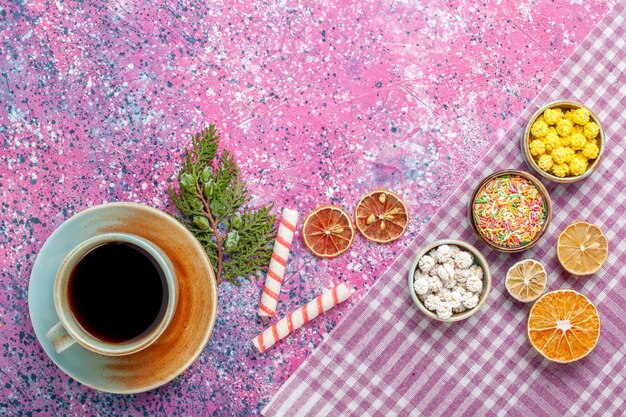
<path id="1" fill-rule="evenodd" d="M 169 194 L 180 211 L 180 221 L 200 241 L 215 269 L 217 282 L 240 285 L 267 270 L 272 256 L 275 217 L 273 205 L 251 209 L 246 184 L 232 154 L 218 154 L 219 135 L 214 125 L 192 137 L 178 172 L 180 192 Z"/>

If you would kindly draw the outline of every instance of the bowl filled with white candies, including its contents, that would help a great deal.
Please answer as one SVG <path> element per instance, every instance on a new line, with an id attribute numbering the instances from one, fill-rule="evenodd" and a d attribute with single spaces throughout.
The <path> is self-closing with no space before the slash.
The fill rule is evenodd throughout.
<path id="1" fill-rule="evenodd" d="M 424 246 L 409 271 L 409 293 L 415 305 L 435 320 L 465 320 L 485 304 L 490 290 L 487 260 L 460 240 Z"/>

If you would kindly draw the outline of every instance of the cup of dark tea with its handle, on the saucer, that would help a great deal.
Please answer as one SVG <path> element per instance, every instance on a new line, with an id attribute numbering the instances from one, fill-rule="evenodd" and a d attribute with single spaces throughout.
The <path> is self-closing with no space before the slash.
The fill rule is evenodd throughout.
<path id="1" fill-rule="evenodd" d="M 147 348 L 174 316 L 174 266 L 154 243 L 127 233 L 105 233 L 65 257 L 54 282 L 59 316 L 46 336 L 61 353 L 74 343 L 107 356 Z"/>

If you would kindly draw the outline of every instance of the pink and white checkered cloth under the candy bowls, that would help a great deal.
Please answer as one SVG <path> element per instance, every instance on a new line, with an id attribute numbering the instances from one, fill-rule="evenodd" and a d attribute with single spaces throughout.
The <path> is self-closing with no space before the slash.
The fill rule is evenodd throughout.
<path id="1" fill-rule="evenodd" d="M 626 413 L 626 1 L 620 1 L 563 64 L 552 81 L 452 194 L 421 235 L 380 277 L 330 337 L 263 410 L 266 416 L 575 416 Z M 533 112 L 559 99 L 593 109 L 607 137 L 605 157 L 590 178 L 546 184 L 553 219 L 537 246 L 499 254 L 472 234 L 467 207 L 488 174 L 521 168 L 520 135 Z M 544 182 L 545 183 L 545 182 Z M 566 273 L 556 257 L 559 233 L 575 220 L 597 224 L 609 257 L 591 277 Z M 460 238 L 491 265 L 493 290 L 470 319 L 441 323 L 413 305 L 407 274 L 413 254 L 435 239 Z M 504 287 L 508 268 L 540 259 L 547 290 L 573 288 L 596 304 L 600 340 L 571 364 L 542 358 L 526 337 L 529 304 Z"/>

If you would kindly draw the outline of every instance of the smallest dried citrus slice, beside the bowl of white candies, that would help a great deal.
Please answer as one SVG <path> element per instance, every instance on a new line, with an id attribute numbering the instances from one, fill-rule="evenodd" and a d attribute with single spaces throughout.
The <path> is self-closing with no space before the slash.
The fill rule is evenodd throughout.
<path id="1" fill-rule="evenodd" d="M 505 286 L 511 297 L 527 303 L 543 294 L 547 281 L 548 274 L 541 263 L 534 259 L 524 259 L 506 273 Z"/>

